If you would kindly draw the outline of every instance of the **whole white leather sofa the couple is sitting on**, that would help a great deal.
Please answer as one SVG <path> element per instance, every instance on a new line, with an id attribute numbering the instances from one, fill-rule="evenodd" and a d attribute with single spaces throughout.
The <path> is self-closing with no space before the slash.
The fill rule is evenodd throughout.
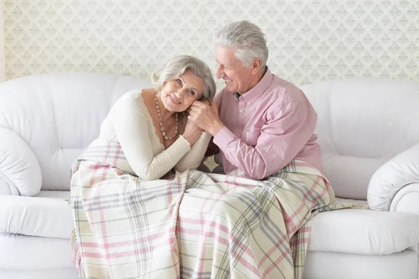
<path id="1" fill-rule="evenodd" d="M 110 106 L 151 83 L 88 73 L 0 84 L 0 278 L 75 279 L 70 166 Z M 338 201 L 374 210 L 314 219 L 306 279 L 418 279 L 419 82 L 301 87 L 318 113 L 323 164 Z"/>

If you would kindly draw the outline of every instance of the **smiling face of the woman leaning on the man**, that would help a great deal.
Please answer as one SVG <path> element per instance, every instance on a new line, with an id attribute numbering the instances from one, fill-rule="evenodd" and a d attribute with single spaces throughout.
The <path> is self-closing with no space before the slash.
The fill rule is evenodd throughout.
<path id="1" fill-rule="evenodd" d="M 182 112 L 199 98 L 203 88 L 203 78 L 198 78 L 188 69 L 179 78 L 164 83 L 160 92 L 161 102 L 173 113 Z"/>

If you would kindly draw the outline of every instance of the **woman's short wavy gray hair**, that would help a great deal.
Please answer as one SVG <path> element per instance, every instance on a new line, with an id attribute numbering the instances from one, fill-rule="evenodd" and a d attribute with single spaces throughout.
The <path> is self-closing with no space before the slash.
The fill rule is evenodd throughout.
<path id="1" fill-rule="evenodd" d="M 160 71 L 154 71 L 152 73 L 154 88 L 160 91 L 166 81 L 179 78 L 188 69 L 195 76 L 204 80 L 204 89 L 200 93 L 198 101 L 212 100 L 215 96 L 216 84 L 212 77 L 210 67 L 200 59 L 189 55 L 177 56 L 171 59 Z"/>

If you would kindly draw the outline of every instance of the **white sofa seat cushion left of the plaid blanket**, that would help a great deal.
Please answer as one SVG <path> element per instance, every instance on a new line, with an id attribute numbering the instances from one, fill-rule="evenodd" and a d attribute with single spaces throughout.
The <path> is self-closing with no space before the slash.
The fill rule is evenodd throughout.
<path id="1" fill-rule="evenodd" d="M 0 232 L 70 238 L 69 191 L 41 191 L 38 196 L 0 196 Z"/>

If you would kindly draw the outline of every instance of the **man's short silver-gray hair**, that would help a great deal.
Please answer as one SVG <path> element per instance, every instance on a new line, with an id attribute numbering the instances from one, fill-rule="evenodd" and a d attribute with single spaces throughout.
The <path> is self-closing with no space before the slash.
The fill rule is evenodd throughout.
<path id="1" fill-rule="evenodd" d="M 215 34 L 214 42 L 216 46 L 232 48 L 245 67 L 259 58 L 262 61 L 260 71 L 265 70 L 269 52 L 265 34 L 256 24 L 247 20 L 230 23 Z"/>

